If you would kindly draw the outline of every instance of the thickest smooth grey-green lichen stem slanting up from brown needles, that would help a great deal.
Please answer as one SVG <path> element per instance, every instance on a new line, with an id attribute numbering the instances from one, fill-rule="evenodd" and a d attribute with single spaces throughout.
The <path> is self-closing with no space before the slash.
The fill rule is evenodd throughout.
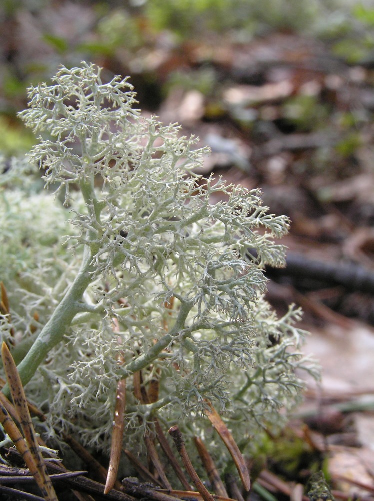
<path id="1" fill-rule="evenodd" d="M 17 366 L 22 384 L 27 384 L 35 374 L 39 365 L 43 362 L 49 351 L 56 346 L 66 333 L 75 315 L 80 311 L 78 302 L 81 300 L 84 291 L 92 280 L 93 272 L 92 254 L 89 247 L 85 247 L 83 261 L 80 270 L 71 284 L 60 304 L 54 310 L 44 328 L 36 338 L 27 355 Z M 9 388 L 6 385 L 3 393 L 10 396 Z"/>

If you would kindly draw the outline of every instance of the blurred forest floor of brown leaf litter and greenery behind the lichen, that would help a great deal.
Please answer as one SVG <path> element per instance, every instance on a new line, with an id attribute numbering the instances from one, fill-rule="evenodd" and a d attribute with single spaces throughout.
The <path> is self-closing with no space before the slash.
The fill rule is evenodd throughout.
<path id="1" fill-rule="evenodd" d="M 341 492 L 357 493 L 352 479 L 373 489 L 374 2 L 2 0 L 5 158 L 36 142 L 17 118 L 27 87 L 82 60 L 129 75 L 144 115 L 209 145 L 204 175 L 260 187 L 291 218 L 287 267 L 266 273 L 280 314 L 302 306 L 323 366 L 299 417 Z"/>

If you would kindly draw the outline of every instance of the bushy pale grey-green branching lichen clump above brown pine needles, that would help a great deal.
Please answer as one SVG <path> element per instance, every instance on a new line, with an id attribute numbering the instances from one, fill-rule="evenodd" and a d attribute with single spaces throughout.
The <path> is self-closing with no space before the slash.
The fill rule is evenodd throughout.
<path id="1" fill-rule="evenodd" d="M 263 298 L 262 268 L 284 264 L 273 239 L 288 220 L 268 214 L 258 190 L 195 175 L 207 150 L 175 125 L 142 118 L 127 79 L 104 83 L 100 73 L 62 67 L 52 85 L 29 90 L 20 115 L 48 134 L 30 161 L 69 210 L 52 209 L 51 195 L 30 199 L 29 183 L 23 195 L 11 190 L 27 179 L 15 162 L 0 198 L 12 308 L 1 335 L 15 330 L 13 353 L 27 352 L 18 370 L 48 412 L 50 433 L 74 430 L 105 450 L 116 382 L 126 378 L 132 440 L 155 415 L 193 435 L 209 399 L 250 443 L 299 399 L 296 369 L 313 372 L 299 353 L 300 312 L 277 318 Z M 6 270 L 8 253 L 15 271 Z M 157 402 L 134 397 L 139 370 L 145 384 L 159 380 Z"/>

